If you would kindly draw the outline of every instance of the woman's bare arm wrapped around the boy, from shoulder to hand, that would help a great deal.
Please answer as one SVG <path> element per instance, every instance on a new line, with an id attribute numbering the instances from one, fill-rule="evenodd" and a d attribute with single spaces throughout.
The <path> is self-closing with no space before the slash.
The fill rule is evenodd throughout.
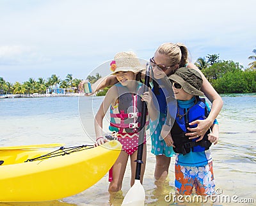
<path id="1" fill-rule="evenodd" d="M 216 117 L 220 113 L 223 106 L 223 101 L 218 92 L 215 91 L 210 82 L 205 78 L 202 71 L 200 71 L 195 66 L 195 64 L 189 63 L 188 68 L 193 68 L 202 75 L 203 84 L 201 87 L 201 91 L 204 92 L 207 99 L 209 99 L 212 103 L 211 112 L 205 120 L 196 120 L 189 123 L 189 125 L 198 124 L 198 126 L 196 128 L 188 128 L 191 133 L 187 133 L 186 135 L 190 136 L 190 138 L 197 138 L 198 136 L 201 136 L 201 138 L 196 140 L 200 141 L 204 137 L 206 131 L 212 126 L 214 119 L 216 119 Z"/>

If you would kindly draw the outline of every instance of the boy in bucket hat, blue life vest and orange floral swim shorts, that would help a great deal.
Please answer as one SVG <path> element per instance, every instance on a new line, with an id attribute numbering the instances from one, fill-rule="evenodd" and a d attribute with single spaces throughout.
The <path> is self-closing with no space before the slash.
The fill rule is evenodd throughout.
<path id="1" fill-rule="evenodd" d="M 213 121 L 211 131 L 204 137 L 189 139 L 189 122 L 203 120 L 210 112 L 204 95 L 200 91 L 202 77 L 198 71 L 179 68 L 170 75 L 175 98 L 177 99 L 177 115 L 171 131 L 173 151 L 179 153 L 175 161 L 175 188 L 180 195 L 191 195 L 195 188 L 197 195 L 214 195 L 214 175 L 212 156 L 209 151 L 211 143 L 218 142 L 218 122 Z M 196 127 L 196 125 L 194 125 Z"/>

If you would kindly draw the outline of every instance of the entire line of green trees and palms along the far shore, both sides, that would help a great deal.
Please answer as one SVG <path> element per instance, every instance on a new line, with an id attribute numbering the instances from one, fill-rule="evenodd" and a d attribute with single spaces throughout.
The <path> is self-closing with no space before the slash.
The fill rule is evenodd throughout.
<path id="1" fill-rule="evenodd" d="M 222 93 L 249 93 L 256 92 L 256 49 L 253 49 L 253 54 L 248 59 L 252 60 L 248 64 L 248 68 L 243 68 L 239 63 L 234 61 L 220 60 L 220 54 L 207 54 L 206 57 L 199 57 L 195 65 L 204 73 L 205 77 L 212 84 L 214 89 L 220 94 Z M 96 82 L 101 75 L 96 73 L 95 76 L 88 75 L 87 80 L 91 84 Z M 72 74 L 68 74 L 65 80 L 52 75 L 44 80 L 38 78 L 29 78 L 28 81 L 20 84 L 15 82 L 6 82 L 3 77 L 0 77 L 0 94 L 45 94 L 49 87 L 79 87 L 81 79 L 73 78 Z M 108 88 L 98 92 L 97 95 L 104 95 Z"/>

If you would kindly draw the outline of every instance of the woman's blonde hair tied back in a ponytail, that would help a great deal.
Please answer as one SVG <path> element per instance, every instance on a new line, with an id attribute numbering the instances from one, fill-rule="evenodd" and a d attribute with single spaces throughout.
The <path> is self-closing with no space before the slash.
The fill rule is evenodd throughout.
<path id="1" fill-rule="evenodd" d="M 184 67 L 188 63 L 188 48 L 182 43 L 163 43 L 156 52 L 168 56 L 172 66 Z"/>

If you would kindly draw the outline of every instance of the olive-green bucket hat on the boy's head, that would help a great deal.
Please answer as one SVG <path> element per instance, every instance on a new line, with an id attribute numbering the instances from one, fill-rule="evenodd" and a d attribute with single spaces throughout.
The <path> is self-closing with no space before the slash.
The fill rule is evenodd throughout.
<path id="1" fill-rule="evenodd" d="M 170 75 L 170 80 L 177 82 L 182 86 L 185 92 L 195 96 L 203 96 L 204 92 L 200 91 L 203 80 L 200 73 L 194 69 L 186 67 L 179 68 L 173 75 Z"/>

